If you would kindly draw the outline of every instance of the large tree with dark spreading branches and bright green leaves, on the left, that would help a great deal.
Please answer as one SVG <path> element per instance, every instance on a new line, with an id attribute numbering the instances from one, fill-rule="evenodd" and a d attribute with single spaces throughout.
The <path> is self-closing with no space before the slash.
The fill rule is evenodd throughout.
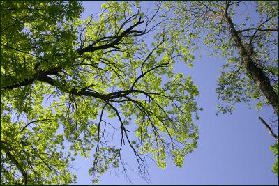
<path id="1" fill-rule="evenodd" d="M 94 181 L 112 167 L 126 173 L 125 144 L 146 178 L 147 158 L 182 166 L 196 148 L 197 87 L 172 72 L 188 59 L 156 32 L 158 11 L 102 8 L 98 21 L 80 20 L 80 2 L 1 1 L 1 184 L 73 183 L 78 153 L 94 157 Z"/>

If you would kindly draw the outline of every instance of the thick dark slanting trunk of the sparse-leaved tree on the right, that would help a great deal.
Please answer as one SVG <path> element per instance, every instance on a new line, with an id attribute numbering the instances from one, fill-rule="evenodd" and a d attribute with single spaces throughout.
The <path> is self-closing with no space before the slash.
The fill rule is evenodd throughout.
<path id="1" fill-rule="evenodd" d="M 241 41 L 239 34 L 236 32 L 231 18 L 228 15 L 225 15 L 224 18 L 227 24 L 229 25 L 229 31 L 232 34 L 232 37 L 234 38 L 234 42 L 239 50 L 239 55 L 241 56 L 246 71 L 252 77 L 257 87 L 262 91 L 262 93 L 264 93 L 266 99 L 269 100 L 271 106 L 278 115 L 278 95 L 271 86 L 269 78 L 264 74 L 262 68 L 259 68 L 255 61 L 253 61 L 251 53 L 243 45 L 243 42 Z"/>

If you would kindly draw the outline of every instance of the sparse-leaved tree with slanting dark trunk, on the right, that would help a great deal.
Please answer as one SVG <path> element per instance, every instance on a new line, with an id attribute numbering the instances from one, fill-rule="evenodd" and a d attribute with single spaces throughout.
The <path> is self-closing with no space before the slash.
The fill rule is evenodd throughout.
<path id="1" fill-rule="evenodd" d="M 165 26 L 179 33 L 183 47 L 197 49 L 197 42 L 190 41 L 205 35 L 211 54 L 227 59 L 216 88 L 222 101 L 218 110 L 232 114 L 234 104 L 253 99 L 258 109 L 264 104 L 273 108 L 278 123 L 278 1 L 168 1 L 165 8 L 163 17 L 175 15 Z M 278 136 L 263 118 L 259 120 L 276 139 L 271 150 L 278 176 Z"/>

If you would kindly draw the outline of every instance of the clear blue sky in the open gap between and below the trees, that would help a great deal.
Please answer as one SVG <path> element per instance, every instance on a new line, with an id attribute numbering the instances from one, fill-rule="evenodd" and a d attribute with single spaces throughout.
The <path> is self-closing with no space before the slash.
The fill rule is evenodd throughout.
<path id="1" fill-rule="evenodd" d="M 102 1 L 84 1 L 82 17 L 100 13 Z M 144 2 L 148 3 L 148 2 Z M 192 75 L 199 88 L 197 102 L 204 111 L 199 114 L 198 147 L 190 155 L 186 155 L 183 168 L 178 168 L 167 161 L 162 170 L 150 162 L 149 173 L 151 183 L 146 183 L 137 173 L 137 164 L 133 152 L 123 151 L 130 158 L 130 179 L 135 185 L 278 185 L 278 178 L 271 172 L 274 157 L 269 146 L 274 143 L 273 137 L 259 121 L 259 116 L 269 116 L 271 109 L 255 110 L 255 103 L 249 109 L 246 104 L 236 105 L 232 115 L 216 116 L 216 95 L 218 68 L 224 59 L 196 58 L 194 67 L 183 65 L 176 67 L 175 72 Z M 88 169 L 93 159 L 78 157 L 75 162 L 77 185 L 91 185 Z M 100 178 L 99 185 L 130 185 L 122 175 L 108 171 Z"/>

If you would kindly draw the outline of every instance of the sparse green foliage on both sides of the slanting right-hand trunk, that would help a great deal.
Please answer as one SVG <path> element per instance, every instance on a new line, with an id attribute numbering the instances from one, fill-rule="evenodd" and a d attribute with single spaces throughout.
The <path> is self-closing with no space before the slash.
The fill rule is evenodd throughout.
<path id="1" fill-rule="evenodd" d="M 249 100 L 256 100 L 257 109 L 270 103 L 247 72 L 227 21 L 222 17 L 227 3 L 230 3 L 227 15 L 232 22 L 241 20 L 240 23 L 234 23 L 241 42 L 252 41 L 252 58 L 257 66 L 262 68 L 278 95 L 278 1 L 167 1 L 165 8 L 171 10 L 167 13 L 175 16 L 165 24 L 168 25 L 169 32 L 181 33 L 176 40 L 189 52 L 200 47 L 201 43 L 198 41 L 203 38 L 202 42 L 209 48 L 211 56 L 219 54 L 226 59 L 223 68 L 219 70 L 216 93 L 221 102 L 217 109 L 232 114 L 234 105 L 239 102 L 249 103 Z M 243 12 L 243 6 L 249 6 L 251 10 Z M 255 13 L 253 19 L 250 19 L 252 11 Z M 261 26 L 259 29 L 263 31 L 256 31 L 257 26 Z"/>

